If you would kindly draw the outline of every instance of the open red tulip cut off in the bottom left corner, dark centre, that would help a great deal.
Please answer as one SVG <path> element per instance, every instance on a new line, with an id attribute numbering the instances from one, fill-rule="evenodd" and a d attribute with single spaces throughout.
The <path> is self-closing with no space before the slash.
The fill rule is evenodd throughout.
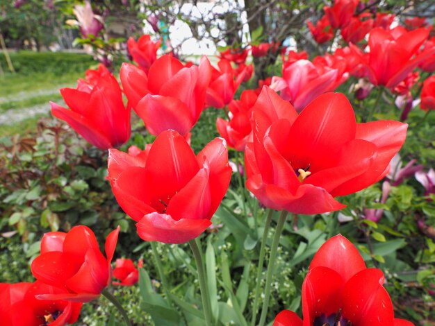
<path id="1" fill-rule="evenodd" d="M 73 324 L 79 318 L 81 302 L 65 300 L 38 300 L 41 293 L 64 293 L 51 285 L 36 281 L 15 284 L 0 283 L 1 325 L 8 326 L 62 326 Z"/>

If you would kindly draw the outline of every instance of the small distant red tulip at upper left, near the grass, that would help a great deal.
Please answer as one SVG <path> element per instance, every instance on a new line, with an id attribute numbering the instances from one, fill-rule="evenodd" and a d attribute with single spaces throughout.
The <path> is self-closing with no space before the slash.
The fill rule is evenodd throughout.
<path id="1" fill-rule="evenodd" d="M 138 42 L 129 37 L 127 46 L 129 47 L 129 53 L 133 57 L 133 60 L 145 71 L 148 72 L 149 67 L 157 59 L 157 50 L 160 47 L 162 40 L 153 42 L 151 37 L 146 34 L 142 35 Z"/>

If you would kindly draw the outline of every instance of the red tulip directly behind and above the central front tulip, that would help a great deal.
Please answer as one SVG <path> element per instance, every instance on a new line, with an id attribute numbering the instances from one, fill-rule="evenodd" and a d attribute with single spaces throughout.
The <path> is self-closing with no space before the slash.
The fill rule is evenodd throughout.
<path id="1" fill-rule="evenodd" d="M 171 55 L 158 58 L 148 76 L 124 63 L 120 71 L 129 105 L 144 121 L 152 135 L 177 130 L 187 135 L 204 109 L 211 65 L 206 57 L 199 66 L 184 67 Z"/>

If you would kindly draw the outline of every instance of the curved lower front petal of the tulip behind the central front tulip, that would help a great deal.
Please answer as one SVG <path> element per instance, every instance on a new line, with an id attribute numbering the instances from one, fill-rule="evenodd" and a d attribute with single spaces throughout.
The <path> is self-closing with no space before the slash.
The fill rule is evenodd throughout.
<path id="1" fill-rule="evenodd" d="M 183 102 L 169 96 L 148 94 L 139 101 L 136 113 L 151 135 L 159 135 L 169 129 L 186 135 L 196 122 Z"/>

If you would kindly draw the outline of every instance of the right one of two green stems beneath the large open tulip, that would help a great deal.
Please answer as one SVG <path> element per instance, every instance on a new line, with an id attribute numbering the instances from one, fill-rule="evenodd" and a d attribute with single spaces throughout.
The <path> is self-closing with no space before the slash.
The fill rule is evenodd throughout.
<path id="1" fill-rule="evenodd" d="M 288 212 L 284 210 L 281 212 L 281 215 L 279 215 L 277 229 L 275 230 L 275 234 L 273 237 L 272 248 L 270 248 L 268 272 L 266 274 L 266 284 L 264 289 L 264 301 L 263 301 L 263 307 L 261 308 L 260 323 L 258 324 L 259 326 L 264 326 L 266 316 L 268 316 L 270 290 L 272 288 L 274 264 L 277 256 L 279 238 L 281 237 L 282 230 L 284 229 L 284 223 L 286 222 L 287 215 Z"/>

